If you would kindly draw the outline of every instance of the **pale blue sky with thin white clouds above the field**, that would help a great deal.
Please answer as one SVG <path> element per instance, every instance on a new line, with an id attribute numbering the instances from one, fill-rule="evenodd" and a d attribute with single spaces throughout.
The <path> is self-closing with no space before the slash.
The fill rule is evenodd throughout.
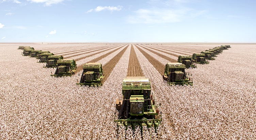
<path id="1" fill-rule="evenodd" d="M 256 1 L 0 0 L 0 42 L 256 42 Z"/>

